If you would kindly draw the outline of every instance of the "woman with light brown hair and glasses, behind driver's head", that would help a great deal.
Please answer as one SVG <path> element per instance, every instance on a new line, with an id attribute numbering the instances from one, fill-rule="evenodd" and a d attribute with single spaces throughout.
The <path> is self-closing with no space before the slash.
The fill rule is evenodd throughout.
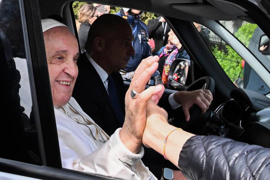
<path id="1" fill-rule="evenodd" d="M 88 36 L 88 31 L 97 17 L 97 7 L 94 7 L 92 4 L 84 4 L 79 10 L 79 22 L 81 24 L 79 27 L 78 36 L 81 53 L 83 53 L 85 50 L 84 46 Z"/>

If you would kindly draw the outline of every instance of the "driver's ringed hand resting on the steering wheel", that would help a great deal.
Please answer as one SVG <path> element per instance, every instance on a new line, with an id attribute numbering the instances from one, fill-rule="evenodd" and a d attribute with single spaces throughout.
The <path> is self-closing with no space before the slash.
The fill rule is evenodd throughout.
<path id="1" fill-rule="evenodd" d="M 207 94 L 206 94 L 207 93 Z M 208 110 L 212 100 L 213 95 L 207 89 L 199 89 L 196 91 L 179 91 L 173 95 L 173 99 L 178 103 L 182 104 L 182 109 L 184 111 L 186 121 L 189 121 L 189 109 L 193 104 L 198 105 L 202 113 L 205 113 Z"/>

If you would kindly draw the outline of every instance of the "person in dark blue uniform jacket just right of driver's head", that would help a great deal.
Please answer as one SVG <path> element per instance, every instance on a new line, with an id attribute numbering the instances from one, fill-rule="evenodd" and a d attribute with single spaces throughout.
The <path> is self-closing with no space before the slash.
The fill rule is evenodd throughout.
<path id="1" fill-rule="evenodd" d="M 123 79 L 125 80 L 130 80 L 133 78 L 134 71 L 142 59 L 152 56 L 151 47 L 148 44 L 148 28 L 146 24 L 140 20 L 142 13 L 143 11 L 140 10 L 121 8 L 120 11 L 115 14 L 117 16 L 123 17 L 128 21 L 134 36 L 132 45 L 135 50 L 135 55 L 130 57 L 127 66 L 122 71 L 120 71 Z M 158 71 L 152 75 L 151 79 L 153 79 L 153 84 L 155 85 L 161 83 L 161 77 Z"/>

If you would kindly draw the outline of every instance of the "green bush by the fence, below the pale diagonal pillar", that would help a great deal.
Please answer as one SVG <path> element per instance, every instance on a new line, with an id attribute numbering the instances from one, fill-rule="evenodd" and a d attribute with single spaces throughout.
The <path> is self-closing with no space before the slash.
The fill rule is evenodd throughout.
<path id="1" fill-rule="evenodd" d="M 239 56 L 230 46 L 226 46 L 227 52 L 218 50 L 218 46 L 211 48 L 212 53 L 218 60 L 218 63 L 221 65 L 222 69 L 228 75 L 232 82 L 234 82 L 239 74 L 243 78 L 243 68 L 241 65 L 242 58 Z"/>

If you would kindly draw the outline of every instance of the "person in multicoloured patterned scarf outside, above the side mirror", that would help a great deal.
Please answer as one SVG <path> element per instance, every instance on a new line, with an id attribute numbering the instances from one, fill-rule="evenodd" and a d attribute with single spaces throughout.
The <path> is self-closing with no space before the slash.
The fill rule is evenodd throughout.
<path id="1" fill-rule="evenodd" d="M 190 60 L 189 55 L 186 50 L 180 43 L 179 39 L 174 34 L 171 29 L 168 33 L 168 44 L 164 47 L 161 47 L 157 52 L 157 55 L 160 57 L 159 61 L 159 71 L 162 74 L 162 83 L 166 87 L 169 81 L 169 70 L 173 61 L 177 58 L 183 58 Z"/>

